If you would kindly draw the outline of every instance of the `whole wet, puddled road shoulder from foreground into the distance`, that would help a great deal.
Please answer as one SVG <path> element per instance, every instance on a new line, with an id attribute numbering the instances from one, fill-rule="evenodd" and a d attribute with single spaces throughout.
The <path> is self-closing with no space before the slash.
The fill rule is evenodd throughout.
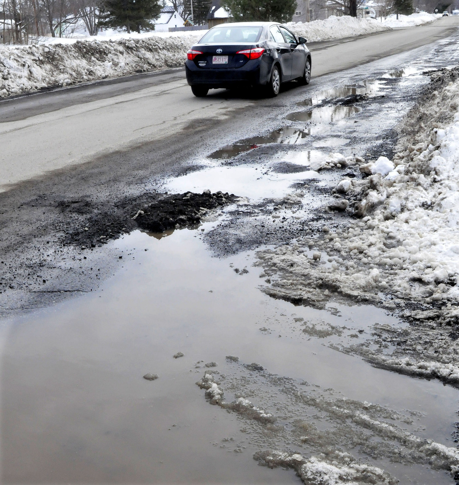
<path id="1" fill-rule="evenodd" d="M 455 446 L 457 389 L 333 348 L 376 323 L 405 323 L 369 305 L 274 300 L 260 291 L 266 275 L 253 263 L 256 250 L 336 221 L 324 210 L 331 189 L 358 170 L 326 170 L 324 162 L 336 151 L 391 156 L 394 127 L 428 82 L 422 72 L 456 53 L 449 39 L 322 78 L 279 108 L 264 133 L 236 135 L 190 160 L 183 176 L 149 184 L 228 192 L 236 203 L 198 227 L 109 240 L 113 276 L 94 291 L 65 301 L 57 293 L 53 306 L 3 320 L 2 483 L 300 483 L 291 469 L 258 466 L 254 453 L 309 455 L 331 444 L 401 484 L 452 483 L 417 439 Z M 184 356 L 173 358 L 177 352 Z M 227 402 L 248 399 L 277 427 L 206 402 L 195 383 L 209 369 Z M 148 381 L 147 373 L 159 377 Z M 325 401 L 352 416 L 377 404 L 378 429 L 341 422 Z M 388 425 L 397 433 L 381 431 Z M 303 439 L 306 432 L 314 439 Z"/>

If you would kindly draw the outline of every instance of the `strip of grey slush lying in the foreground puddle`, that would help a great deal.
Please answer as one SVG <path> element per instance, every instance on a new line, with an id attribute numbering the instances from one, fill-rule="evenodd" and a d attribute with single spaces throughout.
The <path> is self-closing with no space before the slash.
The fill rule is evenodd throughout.
<path id="1" fill-rule="evenodd" d="M 300 387 L 261 366 L 232 364 L 237 366 L 233 376 L 221 375 L 217 381 L 206 371 L 196 384 L 206 389 L 210 403 L 243 420 L 249 442 L 260 449 L 254 458 L 261 465 L 293 468 L 305 484 L 317 485 L 395 485 L 397 478 L 382 468 L 387 460 L 445 470 L 453 476 L 459 470 L 456 448 L 414 434 L 419 413 L 346 399 L 306 382 Z M 231 403 L 221 399 L 223 385 L 236 398 Z M 279 417 L 264 410 L 269 407 Z M 366 463 L 369 458 L 372 464 Z"/>

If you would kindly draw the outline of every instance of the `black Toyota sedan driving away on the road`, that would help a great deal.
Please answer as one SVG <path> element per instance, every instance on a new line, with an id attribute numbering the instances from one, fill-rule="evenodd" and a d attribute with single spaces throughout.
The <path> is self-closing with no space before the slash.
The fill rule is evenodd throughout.
<path id="1" fill-rule="evenodd" d="M 276 22 L 237 22 L 212 27 L 187 53 L 187 82 L 195 96 L 209 89 L 260 86 L 277 96 L 280 85 L 293 79 L 309 84 L 311 53 Z"/>

